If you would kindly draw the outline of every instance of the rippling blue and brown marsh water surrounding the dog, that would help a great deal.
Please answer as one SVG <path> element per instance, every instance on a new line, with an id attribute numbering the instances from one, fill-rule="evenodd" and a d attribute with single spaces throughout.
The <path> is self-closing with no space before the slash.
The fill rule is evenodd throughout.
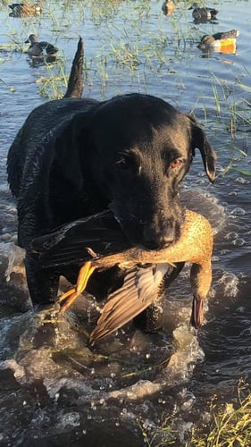
<path id="1" fill-rule="evenodd" d="M 250 2 L 213 5 L 217 23 L 196 25 L 185 2 L 166 17 L 160 1 L 45 1 L 41 18 L 27 19 L 10 18 L 0 4 L 0 445 L 142 446 L 143 434 L 152 445 L 168 445 L 168 434 L 156 431 L 166 417 L 182 445 L 193 423 L 205 421 L 214 394 L 231 401 L 240 378 L 250 383 L 251 202 L 250 177 L 242 173 L 251 172 Z M 231 29 L 240 30 L 235 55 L 198 50 L 202 35 Z M 31 32 L 60 48 L 59 68 L 31 63 L 21 52 Z M 93 351 L 87 347 L 98 317 L 92 297 L 78 299 L 60 318 L 56 306 L 30 306 L 6 154 L 25 117 L 51 93 L 39 94 L 41 81 L 70 72 L 79 34 L 85 96 L 163 97 L 182 112 L 192 110 L 217 151 L 215 184 L 208 184 L 197 153 L 182 188 L 182 200 L 214 231 L 213 285 L 198 333 L 188 326 L 188 269 L 167 293 L 163 333 L 127 325 Z M 4 46 L 11 42 L 17 51 Z"/>

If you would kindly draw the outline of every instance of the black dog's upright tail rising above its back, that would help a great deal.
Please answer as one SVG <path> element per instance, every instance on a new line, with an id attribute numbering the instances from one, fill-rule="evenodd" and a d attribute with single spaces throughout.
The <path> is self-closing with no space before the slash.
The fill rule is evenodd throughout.
<path id="1" fill-rule="evenodd" d="M 71 74 L 64 97 L 82 97 L 84 89 L 83 81 L 84 44 L 79 38 L 78 48 L 71 65 Z"/>

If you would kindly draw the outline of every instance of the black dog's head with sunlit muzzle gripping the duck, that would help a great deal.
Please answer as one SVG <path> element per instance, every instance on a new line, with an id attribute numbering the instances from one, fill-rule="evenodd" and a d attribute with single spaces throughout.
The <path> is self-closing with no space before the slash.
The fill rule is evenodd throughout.
<path id="1" fill-rule="evenodd" d="M 215 177 L 215 153 L 197 122 L 161 99 L 132 94 L 100 103 L 84 123 L 78 118 L 74 134 L 71 181 L 87 188 L 88 179 L 89 193 L 110 204 L 132 243 L 158 249 L 177 240 L 180 182 L 196 148 Z"/>

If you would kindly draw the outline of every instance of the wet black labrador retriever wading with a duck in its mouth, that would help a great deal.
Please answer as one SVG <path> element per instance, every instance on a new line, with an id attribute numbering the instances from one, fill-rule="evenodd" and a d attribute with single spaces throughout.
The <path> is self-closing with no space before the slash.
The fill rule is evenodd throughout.
<path id="1" fill-rule="evenodd" d="M 207 177 L 215 177 L 216 157 L 204 131 L 163 99 L 138 93 L 102 102 L 81 98 L 82 58 L 79 39 L 65 96 L 29 114 L 7 159 L 34 304 L 53 302 L 60 274 L 75 283 L 79 266 L 41 269 L 31 240 L 110 207 L 132 244 L 163 248 L 180 236 L 179 187 L 196 148 Z"/>

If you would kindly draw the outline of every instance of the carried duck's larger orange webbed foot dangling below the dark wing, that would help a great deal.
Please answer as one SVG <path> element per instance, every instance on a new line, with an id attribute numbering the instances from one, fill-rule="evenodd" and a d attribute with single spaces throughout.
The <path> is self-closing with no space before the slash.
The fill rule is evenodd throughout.
<path id="1" fill-rule="evenodd" d="M 79 270 L 78 282 L 76 287 L 70 289 L 70 291 L 66 291 L 59 298 L 59 302 L 61 303 L 66 299 L 65 304 L 60 309 L 60 313 L 65 312 L 68 308 L 71 307 L 71 304 L 79 297 L 79 295 L 86 289 L 88 284 L 89 277 L 96 270 L 96 266 L 93 266 L 91 261 L 86 262 Z"/>

